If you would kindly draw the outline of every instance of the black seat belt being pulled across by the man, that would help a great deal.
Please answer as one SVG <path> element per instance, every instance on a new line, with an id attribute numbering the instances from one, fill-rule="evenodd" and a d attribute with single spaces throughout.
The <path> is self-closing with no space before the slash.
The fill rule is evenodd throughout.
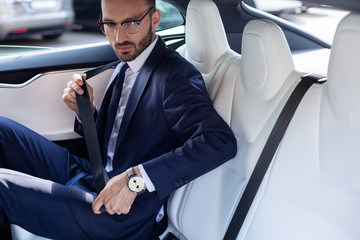
<path id="1" fill-rule="evenodd" d="M 101 67 L 91 69 L 85 72 L 86 79 L 88 80 L 94 77 L 95 75 L 100 74 L 105 70 L 116 66 L 118 63 L 120 63 L 120 61 L 111 62 Z M 79 95 L 76 93 L 76 100 L 79 108 L 80 119 L 82 122 L 86 148 L 89 155 L 91 174 L 93 175 L 94 178 L 96 193 L 99 194 L 102 191 L 102 189 L 105 187 L 106 183 L 108 182 L 109 177 L 103 167 L 100 145 L 96 132 L 94 116 L 91 108 L 89 92 L 86 84 L 83 84 L 83 86 L 81 87 L 84 90 L 84 94 Z M 102 212 L 105 211 L 104 206 L 100 209 L 100 211 Z"/>

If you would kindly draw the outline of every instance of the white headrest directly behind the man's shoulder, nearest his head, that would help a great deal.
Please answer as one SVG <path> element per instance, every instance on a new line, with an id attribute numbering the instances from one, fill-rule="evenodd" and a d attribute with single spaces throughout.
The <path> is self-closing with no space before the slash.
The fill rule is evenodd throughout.
<path id="1" fill-rule="evenodd" d="M 211 0 L 192 0 L 186 23 L 186 57 L 201 73 L 209 73 L 230 49 L 219 10 Z"/>

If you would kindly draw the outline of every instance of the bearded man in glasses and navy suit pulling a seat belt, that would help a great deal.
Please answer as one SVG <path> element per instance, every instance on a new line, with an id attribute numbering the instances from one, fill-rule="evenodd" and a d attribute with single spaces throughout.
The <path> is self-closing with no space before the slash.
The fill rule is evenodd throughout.
<path id="1" fill-rule="evenodd" d="M 167 197 L 234 157 L 235 137 L 201 74 L 156 36 L 160 15 L 154 0 L 102 1 L 99 26 L 121 63 L 93 106 L 110 177 L 98 196 L 86 159 L 0 118 L 0 222 L 54 239 L 153 239 Z M 74 75 L 63 95 L 77 114 L 82 84 Z M 75 131 L 82 133 L 81 119 Z"/>

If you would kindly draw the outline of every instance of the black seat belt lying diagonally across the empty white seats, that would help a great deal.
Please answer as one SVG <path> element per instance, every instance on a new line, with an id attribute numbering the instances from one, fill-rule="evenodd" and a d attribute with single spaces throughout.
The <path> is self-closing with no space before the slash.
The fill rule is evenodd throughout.
<path id="1" fill-rule="evenodd" d="M 259 160 L 228 226 L 224 240 L 236 239 L 281 139 L 306 91 L 313 83 L 323 83 L 325 80 L 326 78 L 324 76 L 316 74 L 305 75 L 292 92 L 265 143 Z"/>

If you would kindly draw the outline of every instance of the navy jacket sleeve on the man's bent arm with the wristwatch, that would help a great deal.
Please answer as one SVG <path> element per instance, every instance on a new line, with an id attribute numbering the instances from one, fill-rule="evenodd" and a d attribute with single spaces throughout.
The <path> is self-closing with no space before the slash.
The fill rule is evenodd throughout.
<path id="1" fill-rule="evenodd" d="M 236 139 L 213 107 L 201 74 L 181 68 L 167 76 L 163 111 L 169 128 L 183 143 L 143 163 L 160 199 L 213 170 L 236 154 Z"/>

